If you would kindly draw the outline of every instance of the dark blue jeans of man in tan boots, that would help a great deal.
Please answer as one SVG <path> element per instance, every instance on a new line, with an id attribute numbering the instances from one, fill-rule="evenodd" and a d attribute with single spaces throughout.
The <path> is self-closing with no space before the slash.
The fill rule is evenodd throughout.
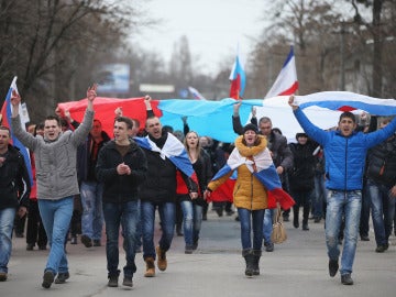
<path id="1" fill-rule="evenodd" d="M 174 202 L 154 204 L 151 201 L 141 201 L 141 220 L 142 220 L 142 238 L 143 238 L 143 258 L 155 258 L 154 246 L 154 222 L 155 209 L 158 207 L 162 235 L 160 239 L 160 248 L 167 251 L 170 248 L 175 231 L 176 207 Z"/>

